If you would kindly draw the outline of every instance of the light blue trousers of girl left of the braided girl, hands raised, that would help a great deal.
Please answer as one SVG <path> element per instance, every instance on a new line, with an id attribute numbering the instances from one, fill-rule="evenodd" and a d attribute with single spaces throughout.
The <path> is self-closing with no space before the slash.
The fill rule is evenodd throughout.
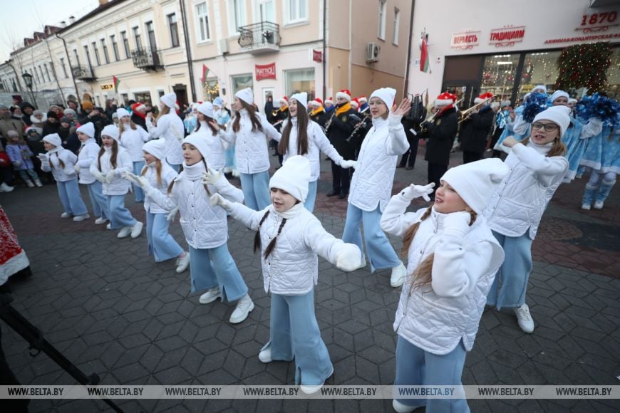
<path id="1" fill-rule="evenodd" d="M 228 244 L 211 249 L 190 246 L 190 275 L 192 293 L 219 286 L 222 301 L 236 301 L 247 294 L 247 286 L 230 256 Z"/>

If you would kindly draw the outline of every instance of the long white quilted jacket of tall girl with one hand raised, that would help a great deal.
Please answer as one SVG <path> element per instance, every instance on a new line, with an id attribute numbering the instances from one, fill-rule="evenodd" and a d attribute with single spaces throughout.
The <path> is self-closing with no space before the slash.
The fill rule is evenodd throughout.
<path id="1" fill-rule="evenodd" d="M 373 127 L 364 138 L 353 172 L 348 203 L 362 211 L 386 208 L 392 194 L 398 155 L 409 149 L 400 117 L 373 119 Z"/>

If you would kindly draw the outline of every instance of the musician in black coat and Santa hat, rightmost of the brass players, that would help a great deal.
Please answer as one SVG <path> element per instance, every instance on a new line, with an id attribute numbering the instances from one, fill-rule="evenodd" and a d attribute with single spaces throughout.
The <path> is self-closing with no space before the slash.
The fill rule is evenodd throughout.
<path id="1" fill-rule="evenodd" d="M 463 163 L 475 162 L 482 159 L 487 147 L 487 138 L 493 125 L 494 113 L 491 110 L 492 93 L 482 93 L 475 98 L 475 105 L 463 111 L 460 121 L 458 140 L 463 150 Z"/>

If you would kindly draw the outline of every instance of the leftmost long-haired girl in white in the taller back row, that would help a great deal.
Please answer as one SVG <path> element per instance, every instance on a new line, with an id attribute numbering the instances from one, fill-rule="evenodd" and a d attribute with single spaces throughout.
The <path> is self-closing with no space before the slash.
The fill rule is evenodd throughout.
<path id="1" fill-rule="evenodd" d="M 148 142 L 150 135 L 142 127 L 131 121 L 131 116 L 125 108 L 118 108 L 116 114 L 118 115 L 118 142 L 131 157 L 132 172 L 140 174 L 144 167 L 142 147 L 144 142 Z M 133 192 L 135 192 L 135 202 L 144 202 L 144 192 L 139 185 L 133 185 Z"/>

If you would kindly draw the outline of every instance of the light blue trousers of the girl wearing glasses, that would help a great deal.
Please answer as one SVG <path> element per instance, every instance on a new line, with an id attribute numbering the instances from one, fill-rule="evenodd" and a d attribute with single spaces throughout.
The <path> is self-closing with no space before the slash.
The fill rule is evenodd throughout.
<path id="1" fill-rule="evenodd" d="M 505 251 L 504 263 L 495 274 L 487 305 L 518 308 L 525 303 L 527 280 L 532 272 L 532 240 L 527 232 L 522 236 L 505 236 L 492 231 Z M 500 286 L 500 279 L 502 284 Z"/>

